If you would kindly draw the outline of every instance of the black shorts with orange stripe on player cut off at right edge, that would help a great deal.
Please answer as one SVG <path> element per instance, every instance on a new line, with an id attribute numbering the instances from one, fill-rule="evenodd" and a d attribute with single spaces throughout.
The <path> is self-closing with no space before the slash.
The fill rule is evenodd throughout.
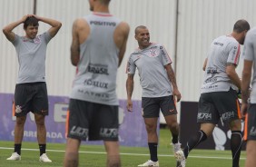
<path id="1" fill-rule="evenodd" d="M 245 118 L 244 140 L 256 141 L 256 103 L 249 105 L 248 113 Z"/>

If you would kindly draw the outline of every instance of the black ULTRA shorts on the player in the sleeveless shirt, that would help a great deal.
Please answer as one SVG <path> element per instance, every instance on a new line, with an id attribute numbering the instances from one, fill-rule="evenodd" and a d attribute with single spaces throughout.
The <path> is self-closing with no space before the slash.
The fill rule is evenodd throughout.
<path id="1" fill-rule="evenodd" d="M 70 99 L 67 137 L 118 141 L 118 106 Z"/>

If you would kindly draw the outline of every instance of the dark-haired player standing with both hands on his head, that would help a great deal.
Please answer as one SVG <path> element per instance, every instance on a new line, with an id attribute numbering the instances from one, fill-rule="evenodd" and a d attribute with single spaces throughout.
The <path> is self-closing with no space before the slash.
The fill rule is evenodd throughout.
<path id="1" fill-rule="evenodd" d="M 44 22 L 52 27 L 44 34 L 37 35 L 39 24 Z M 16 26 L 24 24 L 25 36 L 13 32 Z M 46 129 L 44 117 L 48 115 L 48 97 L 45 83 L 46 46 L 59 31 L 62 24 L 50 18 L 38 15 L 25 15 L 22 19 L 6 25 L 3 32 L 15 45 L 19 73 L 15 86 L 15 151 L 7 160 L 21 160 L 26 114 L 34 113 L 37 126 L 37 141 L 40 150 L 40 162 L 52 162 L 46 155 Z"/>

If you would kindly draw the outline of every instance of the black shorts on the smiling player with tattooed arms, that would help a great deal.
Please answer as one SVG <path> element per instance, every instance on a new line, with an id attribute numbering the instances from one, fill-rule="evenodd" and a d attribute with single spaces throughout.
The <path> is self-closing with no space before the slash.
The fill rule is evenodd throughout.
<path id="1" fill-rule="evenodd" d="M 160 109 L 163 116 L 177 114 L 173 95 L 164 97 L 143 97 L 143 117 L 155 118 L 159 117 Z"/>

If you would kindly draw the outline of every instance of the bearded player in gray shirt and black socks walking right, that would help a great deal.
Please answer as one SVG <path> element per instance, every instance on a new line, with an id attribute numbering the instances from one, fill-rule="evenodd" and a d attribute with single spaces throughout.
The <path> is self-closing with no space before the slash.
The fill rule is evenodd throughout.
<path id="1" fill-rule="evenodd" d="M 203 64 L 205 73 L 197 114 L 200 131 L 190 138 L 183 152 L 176 152 L 179 161 L 185 162 L 189 152 L 212 135 L 215 125 L 222 119 L 231 129 L 232 166 L 239 166 L 242 136 L 237 90 L 241 89 L 241 80 L 235 68 L 239 64 L 240 44 L 249 29 L 247 21 L 238 20 L 230 35 L 213 40 Z"/>

